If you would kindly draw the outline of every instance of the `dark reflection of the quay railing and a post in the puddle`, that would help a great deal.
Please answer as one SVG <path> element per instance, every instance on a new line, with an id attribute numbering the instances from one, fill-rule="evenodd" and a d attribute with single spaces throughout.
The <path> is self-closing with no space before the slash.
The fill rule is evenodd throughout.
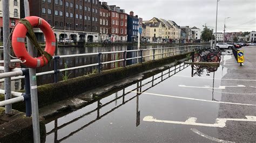
<path id="1" fill-rule="evenodd" d="M 129 87 L 126 87 L 122 90 L 119 90 L 118 92 L 122 91 L 121 96 L 117 96 L 118 92 L 116 92 L 115 94 L 113 94 L 115 98 L 112 99 L 111 101 L 108 101 L 108 102 L 104 103 L 104 104 L 102 104 L 100 102 L 104 98 L 98 99 L 97 108 L 92 109 L 91 111 L 84 113 L 87 109 L 86 108 L 87 106 L 86 106 L 85 108 L 80 109 L 80 113 L 82 113 L 82 115 L 80 115 L 78 118 L 75 118 L 75 119 L 72 119 L 72 120 L 70 120 L 66 123 L 63 123 L 60 126 L 58 126 L 58 119 L 55 119 L 54 121 L 51 121 L 51 123 L 48 123 L 48 125 L 51 125 L 52 122 L 54 122 L 54 127 L 49 126 L 49 127 L 52 128 L 52 130 L 49 130 L 48 126 L 46 125 L 46 130 L 48 130 L 48 132 L 46 133 L 47 134 L 46 142 L 50 142 L 50 140 L 52 140 L 51 139 L 51 137 L 53 138 L 52 134 L 54 134 L 54 142 L 64 141 L 65 139 L 68 139 L 69 137 L 78 133 L 79 131 L 84 130 L 84 128 L 86 128 L 87 126 L 95 123 L 95 121 L 103 118 L 104 116 L 106 116 L 109 113 L 113 112 L 114 110 L 118 109 L 120 106 L 123 106 L 124 104 L 132 101 L 132 99 L 134 99 L 134 98 L 136 98 L 136 126 L 139 126 L 140 125 L 139 95 L 141 95 L 143 92 L 155 87 L 156 85 L 160 84 L 161 82 L 167 80 L 171 76 L 179 73 L 180 71 L 184 70 L 188 66 L 189 65 L 185 65 L 184 63 L 182 63 L 182 65 L 180 64 L 178 66 L 175 66 L 174 68 L 170 68 L 168 70 L 162 71 L 161 75 L 158 76 L 158 77 L 151 76 L 151 77 L 147 78 L 145 81 L 147 81 L 148 79 L 151 79 L 151 80 L 144 83 L 144 84 L 142 84 L 142 81 L 136 83 L 137 86 L 136 86 L 135 89 L 127 91 L 125 89 L 129 88 Z M 166 71 L 167 71 L 167 73 L 166 73 Z M 166 75 L 167 75 L 167 77 L 164 78 L 164 76 L 166 76 Z M 160 80 L 160 81 L 158 81 L 158 80 Z M 156 81 L 158 81 L 158 82 L 155 83 Z M 130 87 L 133 87 L 133 85 L 131 85 Z M 142 87 L 148 87 L 148 88 L 146 88 L 145 90 L 142 90 Z M 131 94 L 134 93 L 134 92 L 136 92 L 136 94 L 134 96 L 131 96 Z M 118 99 L 122 99 L 122 102 L 120 102 L 120 104 L 116 104 Z M 105 113 L 100 114 L 100 112 L 101 112 L 101 110 L 103 110 L 103 108 L 109 109 L 109 107 L 107 107 L 107 105 L 111 105 L 111 103 L 115 103 L 114 107 L 111 108 L 110 110 L 107 110 Z M 93 103 L 93 104 L 95 104 L 95 103 Z M 79 110 L 76 111 L 76 112 L 79 112 Z M 77 128 L 77 130 L 75 130 L 73 132 L 70 132 L 68 135 L 66 135 L 65 137 L 62 137 L 61 139 L 58 139 L 58 131 L 60 131 L 62 128 L 65 128 L 65 127 L 69 128 L 69 126 L 72 126 L 73 124 L 76 124 L 76 123 L 79 124 L 79 120 L 83 120 L 84 118 L 90 118 L 90 117 L 87 117 L 87 116 L 91 116 L 95 112 L 96 112 L 96 117 L 92 118 L 92 120 L 89 121 L 89 123 L 87 123 L 85 125 L 82 125 L 81 127 Z M 76 117 L 77 116 L 78 115 L 76 115 Z M 74 117 L 74 116 L 72 116 L 72 117 Z M 65 117 L 61 117 L 61 118 L 65 118 Z M 65 130 L 65 133 L 68 132 L 68 131 Z"/>

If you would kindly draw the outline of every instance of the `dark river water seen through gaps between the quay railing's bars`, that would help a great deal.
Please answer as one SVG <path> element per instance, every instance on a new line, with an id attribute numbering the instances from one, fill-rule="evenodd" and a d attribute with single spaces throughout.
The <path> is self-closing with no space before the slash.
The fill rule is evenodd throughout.
<path id="1" fill-rule="evenodd" d="M 144 46 L 141 46 L 141 49 L 155 48 L 156 49 L 155 53 L 154 53 L 154 54 L 156 54 L 155 59 L 160 59 L 160 58 L 164 58 L 166 56 L 172 56 L 172 55 L 176 55 L 176 54 L 185 53 L 185 51 L 183 51 L 183 50 L 190 48 L 190 47 L 178 47 L 178 48 L 172 48 L 172 49 L 158 49 L 158 48 L 172 47 L 172 46 L 177 46 L 177 45 L 146 45 L 146 46 L 144 45 Z M 110 51 L 130 51 L 133 49 L 138 49 L 138 47 L 134 46 L 134 45 L 106 46 L 106 47 L 59 47 L 58 49 L 56 49 L 55 55 L 97 53 L 97 52 L 110 52 Z M 182 51 L 182 52 L 179 52 L 179 51 Z M 2 50 L 0 50 L 0 55 L 3 55 Z M 14 55 L 13 52 L 12 52 L 12 55 Z M 143 51 L 143 55 L 153 55 L 153 51 Z M 126 53 L 126 58 L 134 58 L 136 56 L 139 56 L 139 51 Z M 1 56 L 0 58 L 2 58 L 2 57 L 3 56 Z M 104 55 L 102 55 L 101 62 L 120 60 L 120 59 L 124 59 L 123 53 L 104 54 Z M 153 60 L 153 56 L 143 58 L 143 61 L 149 61 L 149 60 Z M 124 62 L 107 63 L 106 65 L 102 65 L 102 70 L 123 67 L 125 65 L 132 65 L 132 64 L 138 63 L 138 62 L 139 62 L 139 59 L 132 59 L 132 60 L 127 60 L 126 63 L 124 63 Z M 58 63 L 57 63 L 57 68 L 64 69 L 65 64 L 68 67 L 77 67 L 77 66 L 90 65 L 93 63 L 98 63 L 98 55 L 79 56 L 79 57 L 75 57 L 75 58 L 59 59 Z M 0 66 L 3 66 L 3 65 L 0 65 Z M 22 67 L 22 66 L 16 65 L 16 67 Z M 67 71 L 66 74 L 69 75 L 69 78 L 75 78 L 78 76 L 83 76 L 86 74 L 93 73 L 96 71 L 95 69 L 97 69 L 97 68 L 98 67 L 95 66 L 95 67 L 87 67 L 87 68 L 82 68 L 82 69 L 75 69 L 75 70 Z M 53 70 L 53 60 L 51 60 L 48 65 L 36 69 L 37 73 L 41 73 L 41 72 L 49 71 L 49 70 Z M 63 74 L 64 73 L 58 74 L 58 81 L 63 80 L 63 77 L 62 77 Z M 54 79 L 53 79 L 52 74 L 42 75 L 42 76 L 37 77 L 37 85 L 48 84 L 48 83 L 53 83 L 53 82 L 54 82 Z M 24 80 L 12 81 L 11 85 L 12 85 L 13 90 L 14 89 L 21 90 L 24 88 L 23 87 Z M 3 83 L 0 83 L 0 88 L 3 89 Z"/>

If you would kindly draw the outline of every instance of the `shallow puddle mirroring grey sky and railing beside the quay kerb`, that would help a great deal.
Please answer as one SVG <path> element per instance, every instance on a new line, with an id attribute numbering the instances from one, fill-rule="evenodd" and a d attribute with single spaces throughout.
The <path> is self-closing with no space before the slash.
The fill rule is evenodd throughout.
<path id="1" fill-rule="evenodd" d="M 146 78 L 110 96 L 52 120 L 46 124 L 46 142 L 164 142 L 187 141 L 179 125 L 152 124 L 143 121 L 145 116 L 166 120 L 186 120 L 197 117 L 200 123 L 214 123 L 219 104 L 180 98 L 220 101 L 221 78 L 227 69 L 214 72 L 208 68 L 194 70 L 190 65 L 178 65 Z M 145 94 L 149 93 L 149 94 Z M 166 96 L 166 97 L 164 97 Z M 187 130 L 185 130 L 187 131 Z M 197 141 L 197 140 L 194 140 Z"/>

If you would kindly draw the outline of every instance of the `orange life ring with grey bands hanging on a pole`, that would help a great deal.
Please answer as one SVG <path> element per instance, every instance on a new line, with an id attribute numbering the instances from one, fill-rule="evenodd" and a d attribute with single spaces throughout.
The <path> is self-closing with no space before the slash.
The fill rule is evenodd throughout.
<path id="1" fill-rule="evenodd" d="M 51 56 L 54 55 L 56 49 L 55 34 L 53 33 L 51 26 L 43 18 L 30 16 L 26 17 L 26 20 L 31 24 L 32 27 L 40 28 L 45 36 L 45 49 L 44 51 L 49 53 Z M 44 55 L 38 58 L 33 58 L 25 47 L 25 38 L 28 29 L 25 25 L 18 23 L 15 26 L 14 32 L 12 33 L 12 47 L 14 53 L 20 60 L 24 60 L 23 65 L 29 68 L 43 67 L 49 61 Z"/>

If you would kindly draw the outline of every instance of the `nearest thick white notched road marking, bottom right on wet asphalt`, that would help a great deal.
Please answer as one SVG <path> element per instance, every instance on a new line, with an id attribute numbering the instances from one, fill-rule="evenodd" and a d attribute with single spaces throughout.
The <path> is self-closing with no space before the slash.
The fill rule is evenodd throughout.
<path id="1" fill-rule="evenodd" d="M 180 124 L 180 125 L 192 125 L 192 126 L 206 126 L 206 127 L 226 127 L 227 121 L 252 121 L 256 122 L 256 116 L 245 116 L 246 119 L 235 119 L 235 118 L 217 118 L 214 124 L 196 123 L 196 117 L 190 117 L 186 121 L 174 121 L 174 120 L 159 120 L 153 116 L 145 116 L 144 121 L 151 121 L 157 123 L 169 123 L 169 124 Z"/>

